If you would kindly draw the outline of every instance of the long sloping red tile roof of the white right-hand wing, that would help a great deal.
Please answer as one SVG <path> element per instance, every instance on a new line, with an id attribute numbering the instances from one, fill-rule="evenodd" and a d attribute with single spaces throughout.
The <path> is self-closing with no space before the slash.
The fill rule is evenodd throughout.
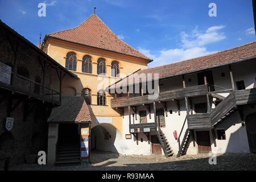
<path id="1" fill-rule="evenodd" d="M 166 77 L 183 75 L 185 73 L 197 72 L 208 68 L 218 67 L 221 65 L 236 63 L 242 60 L 249 60 L 255 57 L 256 42 L 251 42 L 243 46 L 213 53 L 207 56 L 197 57 L 195 59 L 180 61 L 173 64 L 167 64 L 160 67 L 143 69 L 136 73 L 144 73 L 146 75 L 147 73 L 159 73 L 159 79 L 161 79 Z M 127 80 L 129 80 L 129 77 L 117 82 L 115 86 L 119 87 L 122 85 L 126 85 L 126 82 Z M 146 77 L 142 77 L 141 80 L 146 81 Z M 110 88 L 113 88 L 113 86 L 114 85 L 110 86 Z"/>

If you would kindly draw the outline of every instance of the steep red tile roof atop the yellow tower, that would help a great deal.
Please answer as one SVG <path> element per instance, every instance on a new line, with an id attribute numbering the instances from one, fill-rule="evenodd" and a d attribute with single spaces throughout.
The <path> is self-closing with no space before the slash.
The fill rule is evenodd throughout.
<path id="1" fill-rule="evenodd" d="M 55 32 L 47 36 L 151 61 L 149 57 L 119 39 L 96 14 L 91 15 L 76 28 Z"/>

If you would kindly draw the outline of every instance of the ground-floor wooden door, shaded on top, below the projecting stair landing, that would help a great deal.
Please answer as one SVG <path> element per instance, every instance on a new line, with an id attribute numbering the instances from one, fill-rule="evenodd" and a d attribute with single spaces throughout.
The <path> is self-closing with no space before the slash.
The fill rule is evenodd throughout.
<path id="1" fill-rule="evenodd" d="M 199 154 L 208 154 L 212 151 L 209 131 L 196 131 L 196 138 Z"/>

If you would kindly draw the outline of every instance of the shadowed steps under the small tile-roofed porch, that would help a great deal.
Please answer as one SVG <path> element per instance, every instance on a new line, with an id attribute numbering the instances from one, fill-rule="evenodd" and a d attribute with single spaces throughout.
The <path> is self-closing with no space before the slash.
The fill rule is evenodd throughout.
<path id="1" fill-rule="evenodd" d="M 81 164 L 80 146 L 70 144 L 57 146 L 55 164 Z"/>

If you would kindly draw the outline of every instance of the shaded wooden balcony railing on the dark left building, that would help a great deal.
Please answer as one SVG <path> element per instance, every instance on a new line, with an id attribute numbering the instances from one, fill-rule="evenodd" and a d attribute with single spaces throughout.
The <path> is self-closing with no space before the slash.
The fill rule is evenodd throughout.
<path id="1" fill-rule="evenodd" d="M 11 92 L 22 94 L 31 98 L 42 100 L 53 105 L 61 105 L 60 93 L 47 88 L 46 86 L 39 84 L 33 80 L 30 80 L 26 77 L 13 74 L 11 79 L 14 79 L 14 85 L 5 84 L 0 82 L 0 88 L 10 90 Z"/>

